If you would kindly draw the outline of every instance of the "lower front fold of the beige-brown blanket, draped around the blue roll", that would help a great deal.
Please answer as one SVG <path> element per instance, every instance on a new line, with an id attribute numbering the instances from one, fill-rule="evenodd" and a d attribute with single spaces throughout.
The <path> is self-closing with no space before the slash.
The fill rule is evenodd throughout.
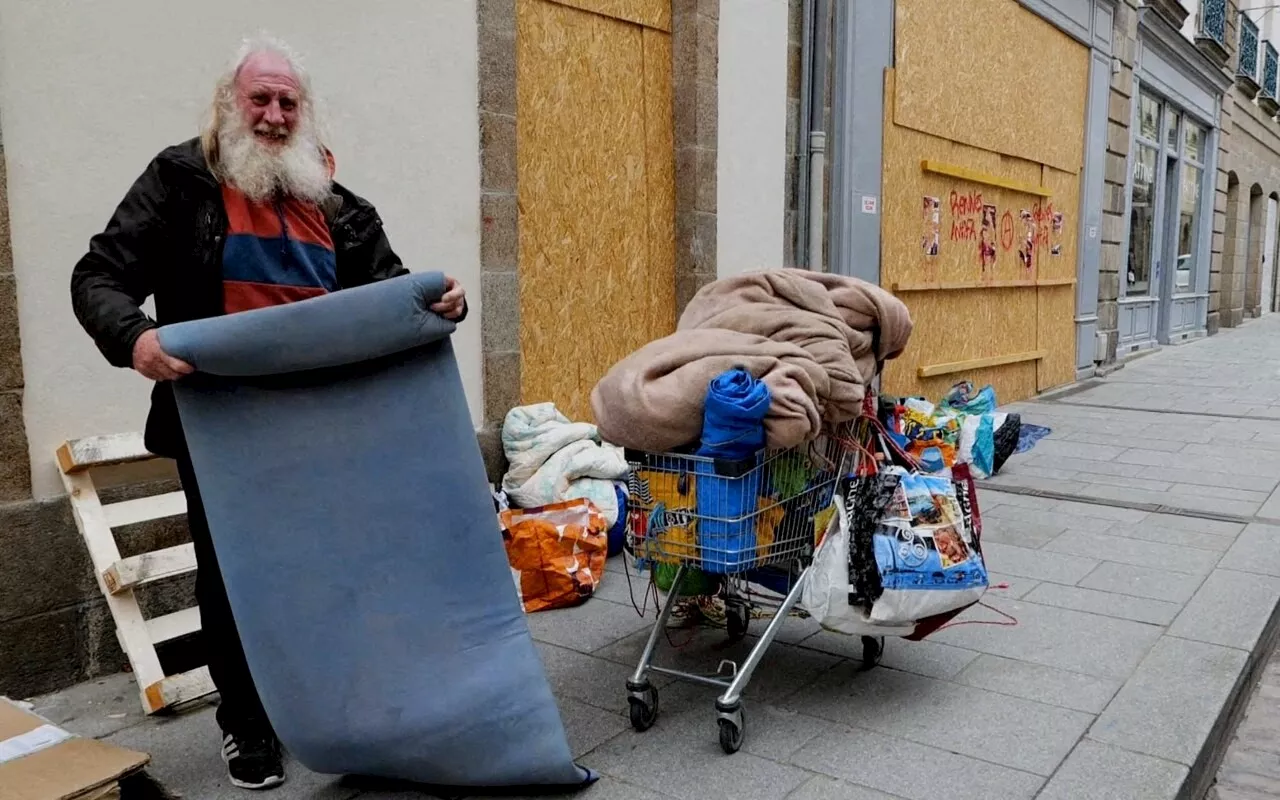
<path id="1" fill-rule="evenodd" d="M 701 329 L 650 342 L 609 370 L 591 390 L 600 436 L 657 452 L 696 442 L 707 385 L 733 367 L 769 387 L 768 447 L 794 447 L 817 433 L 815 398 L 827 392 L 829 380 L 808 352 L 759 335 Z"/>

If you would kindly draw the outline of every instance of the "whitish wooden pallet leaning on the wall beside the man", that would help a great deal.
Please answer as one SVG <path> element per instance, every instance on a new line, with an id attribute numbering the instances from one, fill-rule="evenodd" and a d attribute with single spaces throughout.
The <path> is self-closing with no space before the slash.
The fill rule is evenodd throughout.
<path id="1" fill-rule="evenodd" d="M 58 466 L 70 497 L 76 526 L 84 539 L 99 589 L 115 621 L 115 635 L 129 659 L 147 714 L 172 709 L 214 691 L 207 667 L 165 675 L 156 645 L 200 630 L 200 608 L 191 607 L 160 617 L 145 618 L 134 589 L 196 570 L 192 544 L 120 558 L 113 529 L 182 516 L 187 499 L 170 492 L 134 500 L 102 504 L 93 471 L 101 467 L 142 463 L 157 456 L 147 452 L 142 435 L 113 434 L 73 439 L 58 448 Z"/>

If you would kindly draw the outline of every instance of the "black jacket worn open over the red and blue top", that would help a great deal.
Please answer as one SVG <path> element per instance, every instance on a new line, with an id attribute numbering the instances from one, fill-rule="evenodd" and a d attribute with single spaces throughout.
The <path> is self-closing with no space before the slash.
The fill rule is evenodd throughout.
<path id="1" fill-rule="evenodd" d="M 372 205 L 337 183 L 330 201 L 324 211 L 340 288 L 408 273 Z M 151 160 L 72 270 L 76 317 L 108 362 L 132 367 L 133 344 L 150 328 L 223 314 L 227 224 L 200 140 Z M 147 297 L 155 297 L 155 320 L 141 308 Z M 168 457 L 186 451 L 173 390 L 164 381 L 151 392 L 146 445 Z"/>

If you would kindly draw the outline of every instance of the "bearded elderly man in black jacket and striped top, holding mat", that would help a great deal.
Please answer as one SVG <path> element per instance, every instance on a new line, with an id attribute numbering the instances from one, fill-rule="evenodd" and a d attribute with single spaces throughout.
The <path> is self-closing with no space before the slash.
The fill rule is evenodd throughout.
<path id="1" fill-rule="evenodd" d="M 106 360 L 156 381 L 146 444 L 177 461 L 187 495 L 223 758 L 244 788 L 284 781 L 280 748 L 244 660 L 169 383 L 192 367 L 160 348 L 155 328 L 406 274 L 375 209 L 334 169 L 303 69 L 278 42 L 247 44 L 218 83 L 202 134 L 155 156 L 70 280 L 76 315 Z M 156 321 L 141 308 L 148 296 Z M 457 280 L 434 310 L 466 316 Z"/>

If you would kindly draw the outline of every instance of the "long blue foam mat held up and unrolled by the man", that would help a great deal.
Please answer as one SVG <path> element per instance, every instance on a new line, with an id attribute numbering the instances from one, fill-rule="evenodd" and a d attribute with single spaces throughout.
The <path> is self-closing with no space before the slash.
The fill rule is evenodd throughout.
<path id="1" fill-rule="evenodd" d="M 449 335 L 443 275 L 160 329 L 236 625 L 329 774 L 576 787 Z"/>

